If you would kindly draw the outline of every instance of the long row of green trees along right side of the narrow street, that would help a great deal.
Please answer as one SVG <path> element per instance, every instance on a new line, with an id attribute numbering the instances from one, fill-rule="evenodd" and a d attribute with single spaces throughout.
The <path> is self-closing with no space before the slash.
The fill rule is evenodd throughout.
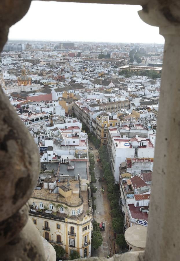
<path id="1" fill-rule="evenodd" d="M 123 233 L 123 218 L 119 208 L 117 208 L 117 206 L 119 205 L 118 185 L 114 184 L 114 176 L 111 171 L 111 166 L 109 163 L 106 146 L 103 145 L 99 148 L 99 155 L 102 161 L 102 169 L 104 172 L 104 177 L 107 182 L 107 195 L 111 207 L 112 226 L 114 231 L 116 231 L 117 233 L 116 243 L 123 248 L 127 244 L 124 239 L 124 233 Z"/>

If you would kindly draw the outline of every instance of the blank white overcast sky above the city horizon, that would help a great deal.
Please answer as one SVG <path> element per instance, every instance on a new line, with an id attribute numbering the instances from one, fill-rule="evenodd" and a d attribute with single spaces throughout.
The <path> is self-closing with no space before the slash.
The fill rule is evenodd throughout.
<path id="1" fill-rule="evenodd" d="M 159 28 L 138 16 L 141 6 L 32 1 L 10 28 L 10 40 L 164 43 Z"/>

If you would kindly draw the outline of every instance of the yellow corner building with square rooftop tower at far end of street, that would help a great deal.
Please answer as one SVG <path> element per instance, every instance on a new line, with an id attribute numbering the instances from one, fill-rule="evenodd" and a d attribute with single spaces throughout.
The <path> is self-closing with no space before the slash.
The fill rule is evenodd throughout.
<path id="1" fill-rule="evenodd" d="M 116 113 L 102 112 L 96 117 L 96 137 L 100 139 L 101 144 L 107 143 L 107 128 L 116 127 L 117 123 Z"/>

